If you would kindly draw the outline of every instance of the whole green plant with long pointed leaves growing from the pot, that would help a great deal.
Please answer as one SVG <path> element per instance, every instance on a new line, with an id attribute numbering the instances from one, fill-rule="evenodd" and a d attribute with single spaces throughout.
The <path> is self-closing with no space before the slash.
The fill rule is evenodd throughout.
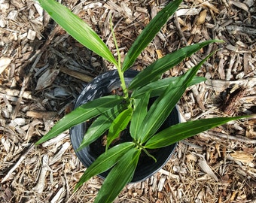
<path id="1" fill-rule="evenodd" d="M 221 42 L 218 40 L 203 41 L 199 44 L 183 47 L 163 56 L 163 58 L 148 65 L 143 71 L 133 74 L 133 77 L 126 77 L 128 69 L 176 11 L 182 2 L 181 0 L 169 2 L 151 20 L 134 41 L 123 62 L 120 59 L 113 29 L 112 35 L 117 48 L 117 60 L 96 32 L 90 29 L 90 26 L 75 14 L 72 14 L 69 9 L 54 0 L 38 0 L 38 2 L 53 20 L 62 26 L 66 32 L 69 32 L 73 38 L 117 68 L 117 71 L 112 74 L 118 76 L 117 83 L 120 84 L 120 95 L 111 93 L 111 91 L 104 94 L 101 91 L 99 91 L 99 94 L 98 92 L 88 93 L 88 89 L 94 89 L 92 83 L 88 84 L 83 94 L 88 94 L 89 99 L 88 97 L 86 99 L 79 98 L 75 110 L 59 120 L 50 129 L 50 132 L 36 143 L 41 144 L 67 129 L 71 129 L 71 132 L 75 131 L 74 126 L 84 125 L 83 123 L 88 120 L 90 120 L 90 126 L 87 125 L 84 138 L 82 138 L 81 143 L 75 144 L 77 153 L 83 150 L 84 147 L 94 144 L 97 139 L 106 134 L 105 150 L 99 157 L 93 159 L 77 186 L 75 186 L 76 190 L 90 177 L 108 171 L 95 202 L 114 201 L 123 187 L 133 179 L 142 154 L 157 162 L 158 159 L 152 155 L 155 150 L 172 146 L 172 144 L 184 138 L 189 138 L 230 120 L 247 117 L 217 117 L 186 123 L 175 121 L 175 123 L 172 123 L 175 125 L 171 124 L 163 127 L 163 123 L 169 120 L 170 114 L 175 110 L 175 105 L 187 86 L 205 80 L 203 77 L 196 77 L 196 74 L 203 62 L 206 62 L 213 53 L 179 77 L 160 79 L 161 74 L 206 45 Z M 96 80 L 101 80 L 101 78 L 100 76 Z M 129 81 L 127 78 L 129 78 Z M 109 85 L 107 86 L 109 87 Z M 126 131 L 129 139 L 119 141 L 121 139 L 120 135 L 124 131 Z"/>

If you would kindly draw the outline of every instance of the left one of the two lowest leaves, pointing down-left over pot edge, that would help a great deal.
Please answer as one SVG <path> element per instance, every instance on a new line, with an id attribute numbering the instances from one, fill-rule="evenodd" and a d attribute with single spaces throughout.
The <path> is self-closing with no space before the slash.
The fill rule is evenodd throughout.
<path id="1" fill-rule="evenodd" d="M 113 167 L 113 165 L 120 161 L 123 154 L 126 154 L 128 151 L 133 149 L 133 147 L 133 142 L 125 142 L 112 147 L 106 153 L 102 153 L 84 172 L 79 182 L 76 184 L 75 190 L 96 174 L 108 171 L 109 168 Z"/>

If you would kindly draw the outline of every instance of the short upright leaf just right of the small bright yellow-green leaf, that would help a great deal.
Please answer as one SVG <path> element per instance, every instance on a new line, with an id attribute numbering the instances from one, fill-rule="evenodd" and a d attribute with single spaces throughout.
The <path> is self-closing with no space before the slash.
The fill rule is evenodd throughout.
<path id="1" fill-rule="evenodd" d="M 134 99 L 134 112 L 130 123 L 130 135 L 138 140 L 139 138 L 139 127 L 142 125 L 148 113 L 148 102 L 151 91 L 144 92 L 139 98 Z"/>

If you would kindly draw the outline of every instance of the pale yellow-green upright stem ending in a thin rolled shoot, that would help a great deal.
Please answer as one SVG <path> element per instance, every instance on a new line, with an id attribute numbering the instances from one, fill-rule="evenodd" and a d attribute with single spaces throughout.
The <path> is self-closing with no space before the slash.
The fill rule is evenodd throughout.
<path id="1" fill-rule="evenodd" d="M 121 68 L 120 51 L 118 49 L 117 39 L 115 38 L 115 35 L 114 35 L 114 29 L 113 29 L 113 24 L 112 24 L 111 17 L 110 17 L 110 24 L 111 24 L 111 33 L 113 35 L 114 45 L 115 45 L 115 47 L 117 49 L 117 71 L 118 71 L 118 74 L 119 74 L 119 77 L 120 77 L 120 82 L 121 82 L 120 86 L 123 89 L 124 98 L 129 98 L 128 90 L 127 90 L 127 87 L 126 87 L 126 84 L 125 84 L 125 80 L 124 80 L 124 76 L 123 76 L 123 71 L 122 71 L 122 68 Z"/>

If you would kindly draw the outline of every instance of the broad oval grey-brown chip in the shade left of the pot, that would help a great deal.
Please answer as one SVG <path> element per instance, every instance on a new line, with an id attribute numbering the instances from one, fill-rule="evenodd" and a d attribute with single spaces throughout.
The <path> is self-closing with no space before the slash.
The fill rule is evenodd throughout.
<path id="1" fill-rule="evenodd" d="M 41 90 L 50 86 L 55 80 L 56 76 L 59 74 L 59 69 L 48 69 L 44 74 L 38 79 L 35 90 Z"/>

